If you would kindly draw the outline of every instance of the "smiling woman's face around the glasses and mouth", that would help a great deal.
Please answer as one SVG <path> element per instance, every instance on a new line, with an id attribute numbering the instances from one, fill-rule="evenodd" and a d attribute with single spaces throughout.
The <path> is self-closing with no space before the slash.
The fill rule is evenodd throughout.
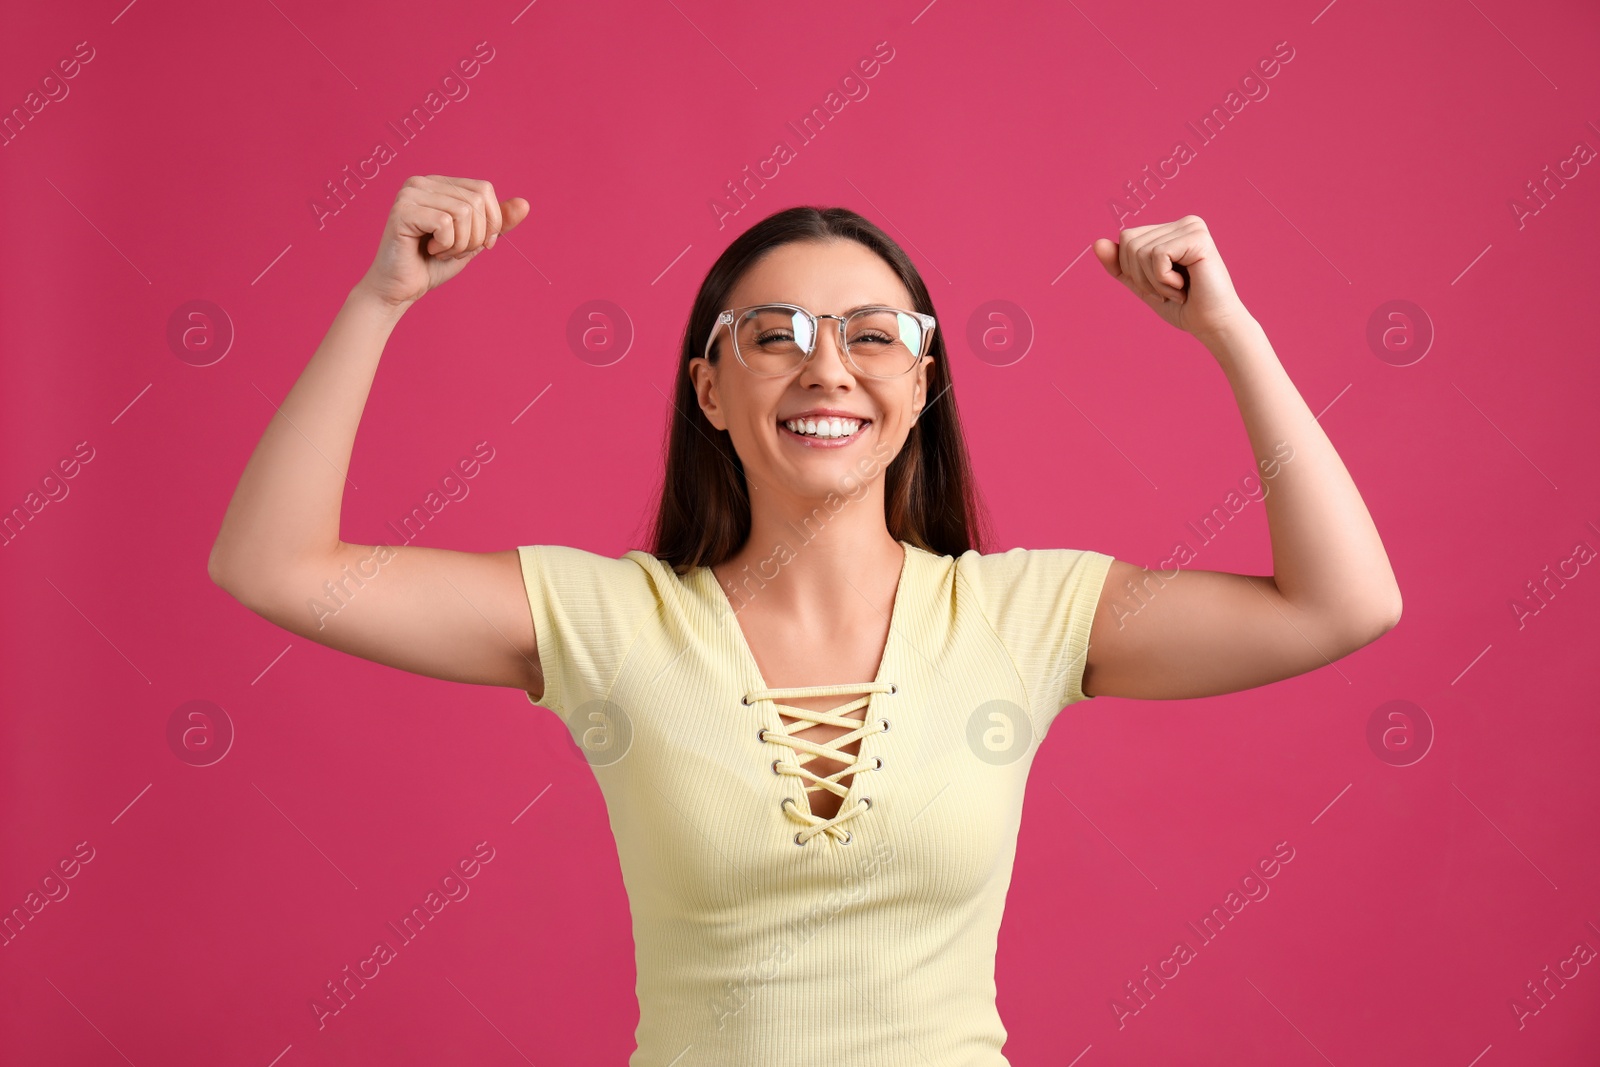
<path id="1" fill-rule="evenodd" d="M 813 315 L 843 315 L 864 304 L 914 309 L 899 275 L 864 245 L 840 238 L 790 242 L 768 251 L 728 294 L 728 307 L 782 302 Z M 838 344 L 838 323 L 818 320 L 816 350 L 789 374 L 762 378 L 734 355 L 728 326 L 717 328 L 717 365 L 696 357 L 690 376 L 701 410 L 726 430 L 752 485 L 802 498 L 859 491 L 899 454 L 912 418 L 928 403 L 928 366 L 896 378 L 856 376 Z M 816 408 L 864 424 L 850 440 L 800 437 L 784 426 Z"/>

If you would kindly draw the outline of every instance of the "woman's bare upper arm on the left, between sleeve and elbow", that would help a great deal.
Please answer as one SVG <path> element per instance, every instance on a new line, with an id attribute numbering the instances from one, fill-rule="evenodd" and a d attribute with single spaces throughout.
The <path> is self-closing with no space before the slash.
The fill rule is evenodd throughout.
<path id="1" fill-rule="evenodd" d="M 448 681 L 544 689 L 515 549 L 341 544 L 234 595 L 285 630 L 362 659 Z"/>

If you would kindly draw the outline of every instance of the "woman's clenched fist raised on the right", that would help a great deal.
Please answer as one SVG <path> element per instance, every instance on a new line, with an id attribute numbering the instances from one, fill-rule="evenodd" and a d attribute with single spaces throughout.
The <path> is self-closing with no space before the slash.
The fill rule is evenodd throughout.
<path id="1" fill-rule="evenodd" d="M 1251 320 L 1200 216 L 1101 237 L 1094 254 L 1155 314 L 1202 341 Z"/>

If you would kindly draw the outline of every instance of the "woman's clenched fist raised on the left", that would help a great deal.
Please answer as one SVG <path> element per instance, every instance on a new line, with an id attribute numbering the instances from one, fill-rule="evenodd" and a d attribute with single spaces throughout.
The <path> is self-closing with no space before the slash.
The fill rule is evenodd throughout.
<path id="1" fill-rule="evenodd" d="M 397 307 L 414 304 L 494 248 L 528 211 L 522 197 L 501 203 L 494 186 L 475 178 L 406 178 L 362 285 Z"/>

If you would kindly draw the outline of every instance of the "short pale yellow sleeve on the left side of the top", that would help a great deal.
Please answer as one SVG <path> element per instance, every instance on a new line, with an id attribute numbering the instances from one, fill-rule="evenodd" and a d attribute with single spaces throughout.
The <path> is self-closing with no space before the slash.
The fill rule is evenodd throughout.
<path id="1" fill-rule="evenodd" d="M 634 550 L 613 560 L 570 545 L 517 549 L 533 613 L 544 693 L 528 701 L 565 713 L 606 699 L 642 627 L 661 606 L 664 563 Z"/>

